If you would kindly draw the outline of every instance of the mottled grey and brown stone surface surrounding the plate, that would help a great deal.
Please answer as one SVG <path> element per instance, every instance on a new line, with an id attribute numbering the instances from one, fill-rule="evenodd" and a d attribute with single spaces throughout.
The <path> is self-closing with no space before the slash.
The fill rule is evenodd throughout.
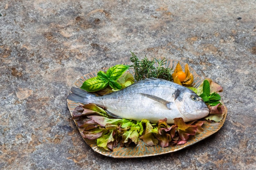
<path id="1" fill-rule="evenodd" d="M 0 0 L 1 170 L 255 170 L 255 0 Z M 67 109 L 72 84 L 140 58 L 189 63 L 223 86 L 227 120 L 171 154 L 95 153 Z"/>

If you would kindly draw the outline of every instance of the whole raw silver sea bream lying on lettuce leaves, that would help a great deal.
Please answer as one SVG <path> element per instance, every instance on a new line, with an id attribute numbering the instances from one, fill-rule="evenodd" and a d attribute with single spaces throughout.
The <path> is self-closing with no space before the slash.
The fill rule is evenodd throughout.
<path id="1" fill-rule="evenodd" d="M 184 122 L 206 117 L 209 108 L 192 90 L 164 79 L 144 79 L 120 90 L 96 96 L 72 87 L 67 99 L 82 104 L 94 103 L 104 106 L 106 112 L 117 118 L 156 123 L 167 118 L 182 117 Z"/>

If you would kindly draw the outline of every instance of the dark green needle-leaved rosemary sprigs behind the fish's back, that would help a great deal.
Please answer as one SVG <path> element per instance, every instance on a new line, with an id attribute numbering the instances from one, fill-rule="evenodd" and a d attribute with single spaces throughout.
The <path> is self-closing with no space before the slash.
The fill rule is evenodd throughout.
<path id="1" fill-rule="evenodd" d="M 172 68 L 163 67 L 163 65 L 166 64 L 166 59 L 157 60 L 154 58 L 154 61 L 150 61 L 145 56 L 144 59 L 139 61 L 138 57 L 134 53 L 132 53 L 130 61 L 133 63 L 132 67 L 135 71 L 134 78 L 136 81 L 150 77 L 173 81 L 173 77 L 171 76 Z M 157 65 L 157 67 L 155 67 L 155 64 Z"/>

